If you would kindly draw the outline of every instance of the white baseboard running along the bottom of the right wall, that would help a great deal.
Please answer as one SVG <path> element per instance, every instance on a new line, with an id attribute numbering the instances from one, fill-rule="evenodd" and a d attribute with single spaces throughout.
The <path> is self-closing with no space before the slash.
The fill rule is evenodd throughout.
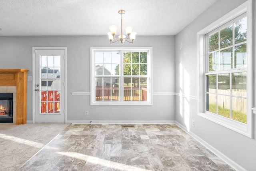
<path id="1" fill-rule="evenodd" d="M 236 162 L 234 162 L 232 159 L 218 151 L 216 148 L 212 147 L 210 144 L 206 143 L 203 139 L 198 137 L 196 134 L 192 133 L 191 131 L 188 131 L 186 127 L 175 121 L 176 125 L 178 125 L 181 129 L 186 131 L 189 135 L 191 135 L 194 139 L 196 139 L 198 142 L 200 142 L 202 145 L 204 145 L 206 148 L 208 148 L 212 153 L 214 153 L 216 156 L 218 156 L 220 159 L 222 159 L 224 162 L 226 162 L 228 165 L 230 165 L 233 169 L 236 171 L 246 171 L 242 166 L 238 165 Z"/>

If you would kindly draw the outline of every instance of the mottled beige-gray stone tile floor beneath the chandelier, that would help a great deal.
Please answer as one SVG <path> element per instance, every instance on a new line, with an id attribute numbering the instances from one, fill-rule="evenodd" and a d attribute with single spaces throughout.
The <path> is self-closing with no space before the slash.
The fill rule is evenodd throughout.
<path id="1" fill-rule="evenodd" d="M 176 124 L 123 125 L 70 124 L 18 171 L 234 171 Z"/>

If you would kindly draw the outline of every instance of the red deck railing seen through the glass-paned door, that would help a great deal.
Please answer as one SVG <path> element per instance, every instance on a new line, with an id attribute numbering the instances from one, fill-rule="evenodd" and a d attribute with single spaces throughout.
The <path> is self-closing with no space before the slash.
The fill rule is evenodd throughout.
<path id="1" fill-rule="evenodd" d="M 48 94 L 47 94 L 48 92 Z M 60 109 L 60 93 L 55 91 L 42 91 L 41 92 L 41 113 L 59 113 Z M 54 102 L 50 102 L 54 101 Z M 48 105 L 47 105 L 48 103 Z M 54 105 L 53 105 L 54 104 Z"/>

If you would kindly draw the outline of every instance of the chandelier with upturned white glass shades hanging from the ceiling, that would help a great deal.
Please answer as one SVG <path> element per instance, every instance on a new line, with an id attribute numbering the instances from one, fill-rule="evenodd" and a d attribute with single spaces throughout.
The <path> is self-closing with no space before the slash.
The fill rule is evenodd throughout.
<path id="1" fill-rule="evenodd" d="M 120 41 L 122 46 L 125 41 L 129 43 L 133 43 L 133 41 L 136 38 L 137 32 L 132 32 L 132 26 L 126 26 L 125 30 L 126 30 L 126 35 L 128 36 L 128 38 L 126 38 L 126 36 L 123 35 L 123 14 L 125 13 L 125 10 L 119 10 L 118 13 L 121 14 L 121 35 L 118 36 L 118 39 L 115 38 L 117 26 L 109 26 L 110 32 L 108 32 L 108 39 L 110 40 L 110 44 L 115 43 L 118 40 Z M 129 41 L 129 39 L 131 40 L 131 42 Z"/>

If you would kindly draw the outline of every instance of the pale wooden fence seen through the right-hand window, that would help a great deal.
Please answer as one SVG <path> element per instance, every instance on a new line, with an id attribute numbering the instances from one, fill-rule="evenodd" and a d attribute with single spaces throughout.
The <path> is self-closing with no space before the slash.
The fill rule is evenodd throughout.
<path id="1" fill-rule="evenodd" d="M 210 93 L 216 93 L 216 89 L 209 89 Z M 218 94 L 226 94 L 230 95 L 230 89 L 218 89 Z M 230 109 L 230 96 L 226 95 L 218 95 L 218 106 L 226 109 Z M 232 95 L 239 97 L 231 97 L 232 98 L 232 110 L 240 111 L 242 113 L 247 113 L 247 91 L 246 89 L 232 89 Z M 216 104 L 217 96 L 209 95 L 209 104 Z"/>

